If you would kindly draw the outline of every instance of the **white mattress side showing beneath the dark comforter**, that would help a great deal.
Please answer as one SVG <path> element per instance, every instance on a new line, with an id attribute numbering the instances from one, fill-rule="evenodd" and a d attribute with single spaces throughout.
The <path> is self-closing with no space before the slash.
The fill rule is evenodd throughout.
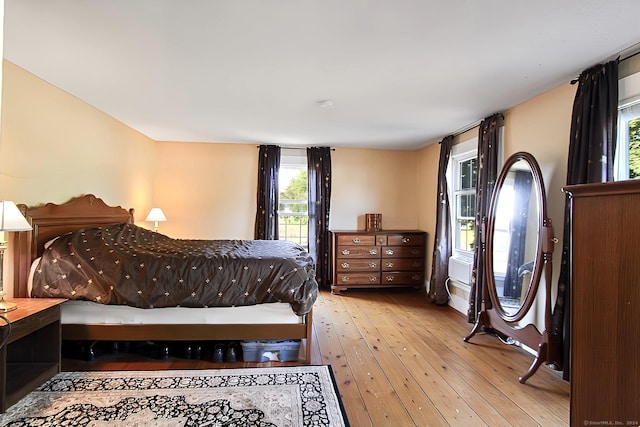
<path id="1" fill-rule="evenodd" d="M 82 325 L 187 325 L 187 324 L 301 324 L 289 303 L 269 303 L 243 307 L 135 308 L 104 305 L 91 301 L 66 301 L 60 307 L 62 324 Z"/>

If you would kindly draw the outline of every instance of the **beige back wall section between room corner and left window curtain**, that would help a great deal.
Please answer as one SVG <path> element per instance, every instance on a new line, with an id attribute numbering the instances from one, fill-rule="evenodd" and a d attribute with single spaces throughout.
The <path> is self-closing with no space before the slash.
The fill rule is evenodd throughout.
<path id="1" fill-rule="evenodd" d="M 160 232 L 185 239 L 252 239 L 256 144 L 158 143 L 154 200 Z M 146 213 L 145 213 L 146 215 Z"/>

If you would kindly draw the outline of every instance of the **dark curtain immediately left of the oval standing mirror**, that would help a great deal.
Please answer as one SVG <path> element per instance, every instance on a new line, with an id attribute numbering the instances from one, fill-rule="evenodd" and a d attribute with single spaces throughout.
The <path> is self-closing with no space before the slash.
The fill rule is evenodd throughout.
<path id="1" fill-rule="evenodd" d="M 502 114 L 494 114 L 480 123 L 478 130 L 478 182 L 476 182 L 476 229 L 473 250 L 473 271 L 467 319 L 474 323 L 482 302 L 484 277 L 484 222 L 489 212 L 491 195 L 498 176 L 498 144 Z"/>

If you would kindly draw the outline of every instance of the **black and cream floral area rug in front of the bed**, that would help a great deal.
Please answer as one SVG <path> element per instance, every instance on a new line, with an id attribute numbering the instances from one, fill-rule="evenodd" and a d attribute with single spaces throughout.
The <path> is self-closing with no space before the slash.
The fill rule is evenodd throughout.
<path id="1" fill-rule="evenodd" d="M 2 426 L 348 426 L 330 366 L 63 372 Z"/>

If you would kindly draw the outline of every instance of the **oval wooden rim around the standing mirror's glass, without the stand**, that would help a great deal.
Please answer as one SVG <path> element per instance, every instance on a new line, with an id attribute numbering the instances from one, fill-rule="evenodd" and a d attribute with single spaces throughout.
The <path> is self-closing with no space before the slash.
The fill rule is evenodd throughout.
<path id="1" fill-rule="evenodd" d="M 524 301 L 520 305 L 520 308 L 513 314 L 509 314 L 504 307 L 502 307 L 502 303 L 500 302 L 500 297 L 498 296 L 498 292 L 496 290 L 496 281 L 495 281 L 495 271 L 493 265 L 493 250 L 494 250 L 494 236 L 495 236 L 495 219 L 496 219 L 496 211 L 498 209 L 498 200 L 500 196 L 501 190 L 505 186 L 505 182 L 509 176 L 509 173 L 513 170 L 513 166 L 516 163 L 521 161 L 526 162 L 529 166 L 529 170 L 531 171 L 531 176 L 533 178 L 532 185 L 535 186 L 535 195 L 534 191 L 531 192 L 532 196 L 536 197 L 536 202 L 538 204 L 538 212 L 537 212 L 537 238 L 536 238 L 536 249 L 535 249 L 535 262 L 533 265 L 533 271 L 531 272 L 531 277 L 529 278 L 529 286 L 527 288 L 527 294 L 525 296 Z M 484 262 L 485 262 L 485 271 L 486 271 L 486 281 L 485 284 L 489 291 L 489 297 L 491 299 L 491 304 L 496 312 L 507 322 L 519 322 L 522 320 L 529 310 L 531 309 L 531 305 L 533 304 L 533 300 L 538 293 L 538 287 L 540 286 L 540 278 L 542 277 L 543 270 L 543 247 L 542 247 L 542 230 L 545 226 L 547 218 L 547 207 L 546 207 L 546 194 L 544 190 L 544 182 L 542 180 L 542 173 L 540 172 L 540 167 L 536 162 L 535 158 L 525 152 L 519 152 L 507 159 L 505 164 L 500 171 L 500 175 L 496 181 L 496 185 L 493 190 L 493 194 L 491 197 L 491 205 L 489 207 L 489 213 L 487 216 L 487 228 L 486 228 L 486 249 L 484 252 Z"/>

